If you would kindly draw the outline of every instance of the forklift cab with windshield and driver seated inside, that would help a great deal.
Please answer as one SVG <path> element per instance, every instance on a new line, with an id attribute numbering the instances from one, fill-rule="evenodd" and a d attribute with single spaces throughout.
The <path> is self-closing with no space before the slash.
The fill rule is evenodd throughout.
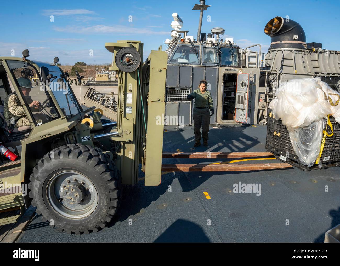
<path id="1" fill-rule="evenodd" d="M 13 94 L 15 101 L 8 104 Z M 21 142 L 32 131 L 51 128 L 54 123 L 49 123 L 58 119 L 78 122 L 82 117 L 64 72 L 26 57 L 0 57 L 0 98 L 1 142 L 19 156 Z"/>

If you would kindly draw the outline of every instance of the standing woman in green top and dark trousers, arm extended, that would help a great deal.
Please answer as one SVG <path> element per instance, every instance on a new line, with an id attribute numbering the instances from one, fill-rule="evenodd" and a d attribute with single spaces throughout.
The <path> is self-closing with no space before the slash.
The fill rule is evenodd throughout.
<path id="1" fill-rule="evenodd" d="M 214 114 L 214 106 L 212 105 L 212 97 L 209 91 L 206 90 L 207 82 L 205 80 L 200 81 L 199 88 L 188 94 L 187 99 L 191 101 L 195 99 L 193 107 L 193 123 L 195 144 L 194 147 L 201 145 L 201 125 L 202 125 L 202 137 L 203 145 L 208 146 L 208 132 L 210 117 Z M 211 115 L 210 112 L 211 111 Z"/>

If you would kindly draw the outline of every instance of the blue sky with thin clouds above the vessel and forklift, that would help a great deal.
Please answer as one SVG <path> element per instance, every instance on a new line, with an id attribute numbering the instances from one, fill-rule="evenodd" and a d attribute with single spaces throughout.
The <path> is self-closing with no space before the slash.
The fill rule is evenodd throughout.
<path id="1" fill-rule="evenodd" d="M 117 2 L 117 4 L 115 4 Z M 87 64 L 111 63 L 112 54 L 105 42 L 141 40 L 144 58 L 170 38 L 172 13 L 183 19 L 183 30 L 197 37 L 199 11 L 192 10 L 198 0 L 172 1 L 3 1 L 0 10 L 0 56 L 14 50 L 20 57 L 29 49 L 30 59 L 62 64 L 77 61 Z M 328 50 L 340 50 L 340 1 L 221 1 L 204 13 L 202 32 L 214 27 L 225 29 L 224 37 L 233 37 L 237 45 L 260 43 L 267 52 L 270 37 L 263 33 L 266 23 L 275 16 L 297 21 L 304 28 L 307 42 L 321 42 Z M 207 22 L 207 16 L 211 21 Z M 50 21 L 54 16 L 54 21 Z M 129 22 L 132 16 L 132 22 Z M 130 17 L 131 18 L 131 17 Z M 223 37 L 222 37 L 223 38 Z M 93 56 L 89 50 L 93 50 Z"/>

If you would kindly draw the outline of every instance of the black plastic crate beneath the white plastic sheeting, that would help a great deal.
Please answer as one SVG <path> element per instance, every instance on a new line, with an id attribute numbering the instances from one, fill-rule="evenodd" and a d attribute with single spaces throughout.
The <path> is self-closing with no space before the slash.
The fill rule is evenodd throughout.
<path id="1" fill-rule="evenodd" d="M 266 149 L 268 152 L 273 153 L 277 159 L 298 167 L 303 171 L 319 169 L 318 165 L 308 167 L 301 163 L 299 156 L 295 154 L 290 142 L 289 132 L 280 119 L 276 120 L 271 112 L 269 112 L 267 118 Z M 321 155 L 322 169 L 340 166 L 340 125 L 332 116 L 329 117 L 329 120 L 333 125 L 334 135 L 332 137 L 326 137 Z M 327 127 L 327 132 L 331 132 L 329 126 Z"/>

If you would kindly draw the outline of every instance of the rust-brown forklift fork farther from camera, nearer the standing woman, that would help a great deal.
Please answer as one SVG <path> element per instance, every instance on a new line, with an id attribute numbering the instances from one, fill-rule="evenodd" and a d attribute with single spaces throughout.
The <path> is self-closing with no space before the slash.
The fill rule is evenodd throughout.
<path id="1" fill-rule="evenodd" d="M 260 157 L 273 156 L 270 152 L 164 152 L 163 158 L 246 158 L 246 157 Z"/>

